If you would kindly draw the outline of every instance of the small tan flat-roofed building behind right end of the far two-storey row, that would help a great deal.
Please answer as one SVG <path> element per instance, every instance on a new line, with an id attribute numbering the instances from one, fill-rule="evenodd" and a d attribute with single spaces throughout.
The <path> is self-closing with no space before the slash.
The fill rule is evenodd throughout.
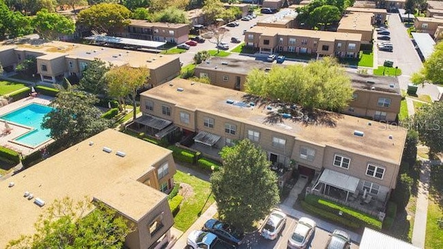
<path id="1" fill-rule="evenodd" d="M 361 35 L 361 43 L 370 44 L 374 27 L 374 14 L 372 12 L 348 12 L 341 17 L 337 32 Z"/>

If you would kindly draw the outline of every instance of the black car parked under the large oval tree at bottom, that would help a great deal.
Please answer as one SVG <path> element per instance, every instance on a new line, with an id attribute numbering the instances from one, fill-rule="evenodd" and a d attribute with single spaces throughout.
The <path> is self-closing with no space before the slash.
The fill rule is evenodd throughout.
<path id="1" fill-rule="evenodd" d="M 224 222 L 217 221 L 216 219 L 206 221 L 203 226 L 203 230 L 212 232 L 213 234 L 217 235 L 219 239 L 233 246 L 239 246 L 242 244 L 244 238 L 243 232 L 240 232 Z"/>

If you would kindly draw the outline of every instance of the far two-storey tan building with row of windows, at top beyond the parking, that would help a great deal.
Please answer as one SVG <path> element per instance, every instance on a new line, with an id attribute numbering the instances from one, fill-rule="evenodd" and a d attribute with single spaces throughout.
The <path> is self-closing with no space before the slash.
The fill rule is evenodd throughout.
<path id="1" fill-rule="evenodd" d="M 260 53 L 291 52 L 316 57 L 358 57 L 361 34 L 255 26 L 244 36 Z"/>

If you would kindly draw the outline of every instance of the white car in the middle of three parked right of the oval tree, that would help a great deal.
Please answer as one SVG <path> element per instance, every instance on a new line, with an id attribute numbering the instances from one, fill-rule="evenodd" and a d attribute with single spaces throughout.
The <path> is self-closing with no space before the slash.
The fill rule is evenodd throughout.
<path id="1" fill-rule="evenodd" d="M 291 249 L 305 249 L 307 248 L 307 243 L 314 235 L 316 230 L 316 222 L 302 217 L 298 220 L 296 228 L 294 228 L 291 237 L 288 240 L 288 248 Z"/>

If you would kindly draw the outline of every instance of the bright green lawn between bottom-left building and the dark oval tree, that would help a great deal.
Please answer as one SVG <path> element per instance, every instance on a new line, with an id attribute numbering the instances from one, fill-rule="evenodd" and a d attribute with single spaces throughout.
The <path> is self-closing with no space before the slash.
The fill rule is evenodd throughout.
<path id="1" fill-rule="evenodd" d="M 214 196 L 210 195 L 210 183 L 195 176 L 177 171 L 174 180 L 192 187 L 192 196 L 183 201 L 179 213 L 174 217 L 174 227 L 184 232 L 214 203 Z"/>

